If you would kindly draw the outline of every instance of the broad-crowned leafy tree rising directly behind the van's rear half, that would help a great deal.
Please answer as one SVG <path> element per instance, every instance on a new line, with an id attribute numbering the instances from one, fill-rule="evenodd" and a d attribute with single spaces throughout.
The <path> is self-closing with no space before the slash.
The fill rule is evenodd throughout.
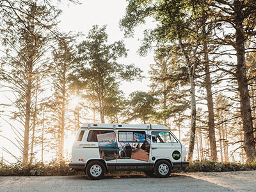
<path id="1" fill-rule="evenodd" d="M 127 56 L 127 49 L 122 41 L 107 44 L 106 26 L 93 26 L 86 40 L 77 45 L 76 57 L 70 81 L 80 90 L 84 97 L 90 99 L 93 107 L 100 113 L 100 121 L 113 113 L 113 108 L 120 102 L 122 92 L 120 81 L 132 81 L 141 74 L 134 65 L 122 65 L 118 58 Z"/>

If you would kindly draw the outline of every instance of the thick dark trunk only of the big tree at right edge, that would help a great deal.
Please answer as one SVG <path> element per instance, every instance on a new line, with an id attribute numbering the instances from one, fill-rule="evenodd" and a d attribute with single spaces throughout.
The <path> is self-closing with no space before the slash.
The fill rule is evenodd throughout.
<path id="1" fill-rule="evenodd" d="M 253 136 L 252 124 L 252 110 L 250 105 L 250 96 L 248 92 L 248 79 L 246 76 L 245 63 L 245 45 L 244 45 L 244 31 L 243 31 L 243 14 L 241 13 L 241 4 L 235 4 L 235 20 L 236 20 L 236 56 L 237 56 L 237 70 L 236 77 L 238 83 L 238 91 L 240 97 L 240 111 L 244 129 L 244 150 L 247 161 L 253 161 L 256 157 L 255 141 Z"/>

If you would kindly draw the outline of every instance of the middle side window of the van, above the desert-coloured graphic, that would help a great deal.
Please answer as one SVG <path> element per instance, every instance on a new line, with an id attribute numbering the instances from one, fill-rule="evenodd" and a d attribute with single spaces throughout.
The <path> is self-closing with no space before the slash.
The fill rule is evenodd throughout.
<path id="1" fill-rule="evenodd" d="M 144 142 L 145 131 L 118 131 L 119 142 Z"/>

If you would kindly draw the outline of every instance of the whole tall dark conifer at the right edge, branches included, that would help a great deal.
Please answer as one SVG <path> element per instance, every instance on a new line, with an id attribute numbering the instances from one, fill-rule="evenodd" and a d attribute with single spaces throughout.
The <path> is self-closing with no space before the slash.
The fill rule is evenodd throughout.
<path id="1" fill-rule="evenodd" d="M 218 53 L 236 56 L 235 65 L 221 70 L 232 74 L 237 80 L 244 129 L 244 150 L 247 161 L 253 161 L 256 151 L 245 55 L 247 51 L 255 51 L 255 42 L 251 38 L 256 34 L 256 4 L 254 0 L 215 0 L 205 3 L 214 9 L 212 16 L 215 18 L 216 43 L 234 48 Z M 225 28 L 230 30 L 226 31 Z M 247 42 L 250 42 L 249 47 L 246 47 Z"/>

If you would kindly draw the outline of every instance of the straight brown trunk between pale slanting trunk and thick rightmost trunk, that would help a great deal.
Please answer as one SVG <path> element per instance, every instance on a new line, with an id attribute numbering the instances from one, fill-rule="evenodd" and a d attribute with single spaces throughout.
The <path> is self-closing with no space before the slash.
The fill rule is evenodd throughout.
<path id="1" fill-rule="evenodd" d="M 209 51 L 206 41 L 206 30 L 205 30 L 205 17 L 203 19 L 202 32 L 204 34 L 204 63 L 205 63 L 205 89 L 207 93 L 207 108 L 208 108 L 208 127 L 209 127 L 209 140 L 211 145 L 211 159 L 213 161 L 218 161 L 217 157 L 217 147 L 215 138 L 215 127 L 214 127 L 214 111 L 212 102 L 212 82 L 209 69 Z"/>

